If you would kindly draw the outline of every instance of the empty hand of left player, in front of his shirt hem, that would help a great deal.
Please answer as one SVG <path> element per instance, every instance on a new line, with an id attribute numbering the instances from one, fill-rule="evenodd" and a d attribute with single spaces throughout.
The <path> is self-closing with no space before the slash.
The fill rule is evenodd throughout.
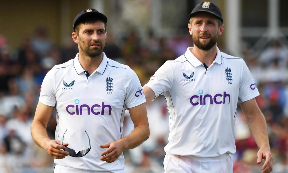
<path id="1" fill-rule="evenodd" d="M 118 140 L 115 142 L 109 142 L 104 145 L 99 145 L 101 148 L 107 148 L 103 153 L 101 153 L 100 160 L 102 162 L 112 163 L 122 154 L 125 150 L 123 141 Z"/>

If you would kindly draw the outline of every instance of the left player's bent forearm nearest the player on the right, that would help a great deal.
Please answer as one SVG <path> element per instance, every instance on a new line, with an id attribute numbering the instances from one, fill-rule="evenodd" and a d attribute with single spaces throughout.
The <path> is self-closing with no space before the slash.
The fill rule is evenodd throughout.
<path id="1" fill-rule="evenodd" d="M 121 138 L 119 141 L 123 142 L 124 150 L 129 150 L 137 147 L 149 138 L 150 130 L 149 125 L 141 124 L 126 137 Z"/>

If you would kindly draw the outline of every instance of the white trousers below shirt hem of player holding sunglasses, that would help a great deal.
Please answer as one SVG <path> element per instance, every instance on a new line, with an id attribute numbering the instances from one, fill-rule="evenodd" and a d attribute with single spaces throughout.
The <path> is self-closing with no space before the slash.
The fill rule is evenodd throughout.
<path id="1" fill-rule="evenodd" d="M 88 171 L 75 169 L 66 166 L 55 165 L 54 173 L 125 173 L 125 170 L 120 171 Z"/>

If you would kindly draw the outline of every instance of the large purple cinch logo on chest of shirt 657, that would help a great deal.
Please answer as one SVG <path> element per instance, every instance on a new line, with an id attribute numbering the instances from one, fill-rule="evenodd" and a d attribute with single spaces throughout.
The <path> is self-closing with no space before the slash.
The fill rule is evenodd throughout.
<path id="1" fill-rule="evenodd" d="M 214 103 L 216 103 L 217 105 L 220 104 L 225 104 L 225 100 L 228 97 L 229 101 L 228 101 L 228 105 L 230 104 L 230 99 L 231 96 L 229 94 L 226 94 L 226 92 L 224 91 L 223 94 L 215 94 L 214 96 L 211 96 L 210 94 L 205 94 L 204 96 L 203 94 L 203 90 L 199 90 L 198 93 L 200 94 L 200 96 L 198 95 L 194 95 L 190 98 L 190 103 L 193 106 L 196 105 L 206 105 L 206 99 L 209 98 L 210 100 L 210 105 L 213 105 L 213 101 Z M 198 102 L 198 98 L 200 97 L 200 103 Z M 223 97 L 223 98 L 222 98 Z M 223 100 L 223 101 L 222 101 Z"/>

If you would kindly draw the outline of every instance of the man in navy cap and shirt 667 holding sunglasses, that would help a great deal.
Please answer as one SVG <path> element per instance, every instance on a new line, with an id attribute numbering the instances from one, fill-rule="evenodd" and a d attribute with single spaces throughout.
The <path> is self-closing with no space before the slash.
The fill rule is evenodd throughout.
<path id="1" fill-rule="evenodd" d="M 149 137 L 146 100 L 136 73 L 103 52 L 106 25 L 107 17 L 97 10 L 80 12 L 72 33 L 79 53 L 55 65 L 41 85 L 31 134 L 54 158 L 55 173 L 124 173 L 123 150 Z M 46 126 L 54 108 L 57 126 L 51 140 Z M 126 108 L 135 129 L 124 137 Z"/>

